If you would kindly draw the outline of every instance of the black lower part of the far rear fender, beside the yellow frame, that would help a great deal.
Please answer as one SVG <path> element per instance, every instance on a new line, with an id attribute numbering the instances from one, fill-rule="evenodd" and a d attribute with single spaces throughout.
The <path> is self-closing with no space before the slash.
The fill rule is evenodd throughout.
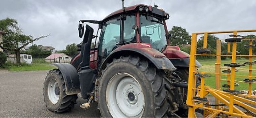
<path id="1" fill-rule="evenodd" d="M 171 58 L 169 59 L 173 65 L 177 68 L 185 68 L 189 67 L 190 57 L 187 58 Z M 195 62 L 196 66 L 199 68 L 202 65 L 196 60 Z"/>

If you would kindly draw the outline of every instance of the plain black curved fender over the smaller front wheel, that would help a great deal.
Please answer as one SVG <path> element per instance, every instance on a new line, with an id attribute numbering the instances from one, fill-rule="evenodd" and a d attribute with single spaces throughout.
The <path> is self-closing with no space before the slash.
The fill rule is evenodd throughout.
<path id="1" fill-rule="evenodd" d="M 80 93 L 79 76 L 76 68 L 69 63 L 53 63 L 52 65 L 58 67 L 64 78 L 66 94 L 72 95 Z"/>

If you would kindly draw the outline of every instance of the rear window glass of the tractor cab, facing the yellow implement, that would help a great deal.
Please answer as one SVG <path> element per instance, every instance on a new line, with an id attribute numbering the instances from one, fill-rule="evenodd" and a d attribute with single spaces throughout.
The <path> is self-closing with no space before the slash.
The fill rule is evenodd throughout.
<path id="1" fill-rule="evenodd" d="M 140 15 L 140 41 L 150 43 L 152 48 L 161 51 L 167 44 L 163 21 L 151 16 Z"/>

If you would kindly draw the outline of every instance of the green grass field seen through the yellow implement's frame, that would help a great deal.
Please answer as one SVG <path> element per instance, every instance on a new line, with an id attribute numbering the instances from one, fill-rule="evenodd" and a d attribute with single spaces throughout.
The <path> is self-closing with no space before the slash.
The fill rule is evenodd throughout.
<path id="1" fill-rule="evenodd" d="M 253 59 L 253 60 L 256 60 L 256 59 Z M 215 72 L 216 60 L 207 59 L 207 60 L 198 60 L 198 61 L 202 64 L 202 67 L 198 68 L 198 71 L 200 71 L 200 72 Z M 236 62 L 244 63 L 244 62 L 248 62 L 248 59 L 240 58 L 240 59 L 237 59 Z M 231 59 L 221 60 L 221 67 L 225 67 L 224 66 L 225 63 L 231 63 Z M 238 67 L 237 69 L 239 69 L 239 68 L 249 69 L 249 65 Z M 256 69 L 256 66 L 252 65 L 252 69 Z M 221 71 L 222 70 L 227 70 L 227 69 L 221 69 Z M 226 74 L 226 73 L 222 73 L 222 74 Z M 248 70 L 239 70 L 238 72 L 236 72 L 236 75 L 248 76 L 248 74 L 249 74 Z M 256 76 L 255 71 L 252 71 L 252 76 Z M 248 78 L 248 77 L 236 77 L 235 80 L 243 81 L 244 78 Z M 227 76 L 222 75 L 221 79 L 227 79 Z M 238 82 L 236 82 L 236 83 L 238 83 Z M 223 84 L 227 84 L 227 81 L 221 81 L 220 85 L 222 86 Z M 239 84 L 239 86 L 235 87 L 236 90 L 248 90 L 248 83 L 238 83 L 238 84 Z M 209 85 L 212 88 L 215 88 L 215 75 L 214 74 L 211 74 L 211 77 L 205 78 L 205 85 Z M 256 90 L 256 84 L 252 84 L 252 90 Z"/>

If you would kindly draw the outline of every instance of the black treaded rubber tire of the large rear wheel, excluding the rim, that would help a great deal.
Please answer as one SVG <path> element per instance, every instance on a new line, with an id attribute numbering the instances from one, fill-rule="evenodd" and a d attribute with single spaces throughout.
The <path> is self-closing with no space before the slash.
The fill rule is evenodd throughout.
<path id="1" fill-rule="evenodd" d="M 164 79 L 165 73 L 163 70 L 156 69 L 152 63 L 143 58 L 121 56 L 107 64 L 100 78 L 99 109 L 102 117 L 113 117 L 109 110 L 106 91 L 112 77 L 119 73 L 131 75 L 136 78 L 140 85 L 144 94 L 144 106 L 140 114 L 141 117 L 163 117 L 166 116 L 169 110 L 172 110 L 173 92 L 170 91 L 170 85 Z M 137 115 L 135 117 L 140 116 Z"/>

